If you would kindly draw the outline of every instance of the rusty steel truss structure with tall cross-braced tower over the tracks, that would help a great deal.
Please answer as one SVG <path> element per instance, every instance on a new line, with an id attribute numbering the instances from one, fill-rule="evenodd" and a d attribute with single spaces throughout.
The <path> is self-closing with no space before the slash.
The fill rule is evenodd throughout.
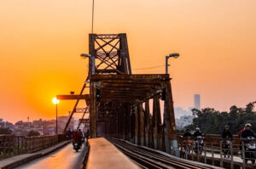
<path id="1" fill-rule="evenodd" d="M 79 100 L 85 99 L 90 113 L 91 138 L 122 138 L 168 153 L 177 149 L 169 74 L 132 74 L 125 33 L 90 34 L 89 49 L 91 57 L 86 82 L 90 83 L 84 82 L 79 95 L 57 96 L 58 99 L 77 100 L 64 132 L 76 113 Z M 84 93 L 87 86 L 90 93 Z M 153 112 L 149 112 L 149 99 L 153 100 Z M 163 121 L 160 99 L 165 104 Z M 84 122 L 83 118 L 80 122 Z"/>

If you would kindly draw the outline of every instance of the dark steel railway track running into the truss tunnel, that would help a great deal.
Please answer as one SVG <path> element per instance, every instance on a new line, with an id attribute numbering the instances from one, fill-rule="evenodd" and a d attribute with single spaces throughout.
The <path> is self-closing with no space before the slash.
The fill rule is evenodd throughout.
<path id="1" fill-rule="evenodd" d="M 177 160 L 177 158 L 172 158 L 167 155 L 162 155 L 156 153 L 150 149 L 145 149 L 143 147 L 138 147 L 132 144 L 128 144 L 125 141 L 121 141 L 114 138 L 107 138 L 112 144 L 114 144 L 120 151 L 135 161 L 137 165 L 141 166 L 143 169 L 210 169 L 216 168 L 214 166 L 199 166 L 198 164 L 191 163 L 190 161 L 185 161 L 183 159 Z"/>

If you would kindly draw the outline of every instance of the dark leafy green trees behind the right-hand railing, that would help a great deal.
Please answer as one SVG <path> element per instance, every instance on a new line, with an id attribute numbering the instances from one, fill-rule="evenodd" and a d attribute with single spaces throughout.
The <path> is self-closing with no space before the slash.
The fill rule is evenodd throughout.
<path id="1" fill-rule="evenodd" d="M 225 125 L 230 126 L 230 132 L 236 135 L 246 123 L 251 123 L 252 129 L 256 132 L 256 111 L 253 111 L 256 101 L 246 105 L 245 108 L 233 105 L 229 111 L 220 112 L 213 108 L 202 110 L 193 109 L 195 115 L 193 123 L 185 129 L 195 130 L 200 127 L 203 134 L 221 134 Z"/>

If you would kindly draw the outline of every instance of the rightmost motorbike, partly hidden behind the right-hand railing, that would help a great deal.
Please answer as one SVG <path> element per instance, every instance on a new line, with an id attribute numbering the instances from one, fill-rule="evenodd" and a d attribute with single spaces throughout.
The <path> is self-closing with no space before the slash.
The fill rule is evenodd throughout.
<path id="1" fill-rule="evenodd" d="M 255 163 L 255 158 L 256 158 L 256 146 L 255 146 L 255 142 L 254 142 L 254 137 L 250 136 L 247 137 L 247 141 L 245 141 L 245 146 L 244 146 L 244 150 L 245 150 L 245 162 L 247 163 L 247 161 L 252 161 L 252 163 Z"/>

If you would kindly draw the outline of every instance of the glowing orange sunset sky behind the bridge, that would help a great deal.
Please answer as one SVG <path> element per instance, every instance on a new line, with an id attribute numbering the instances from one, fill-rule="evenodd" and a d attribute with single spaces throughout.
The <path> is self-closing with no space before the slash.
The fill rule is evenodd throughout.
<path id="1" fill-rule="evenodd" d="M 128 37 L 133 69 L 165 64 L 175 106 L 227 110 L 256 100 L 255 0 L 95 0 L 95 32 Z M 79 92 L 88 52 L 90 0 L 0 1 L 0 117 L 54 118 L 51 99 Z M 164 73 L 165 68 L 133 70 Z M 73 102 L 61 102 L 67 115 Z"/>

